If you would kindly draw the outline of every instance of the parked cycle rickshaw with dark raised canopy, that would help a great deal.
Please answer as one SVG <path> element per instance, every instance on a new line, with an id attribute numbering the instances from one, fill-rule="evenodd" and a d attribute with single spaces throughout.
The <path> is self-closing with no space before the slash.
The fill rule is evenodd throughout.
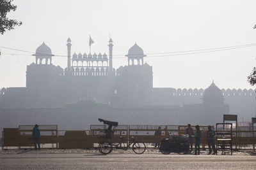
<path id="1" fill-rule="evenodd" d="M 146 150 L 146 145 L 143 142 L 135 141 L 134 137 L 131 139 L 124 139 L 124 136 L 120 136 L 120 141 L 118 143 L 113 143 L 112 139 L 115 133 L 115 129 L 118 126 L 118 122 L 112 122 L 109 120 L 103 120 L 99 118 L 100 122 L 104 124 L 104 131 L 103 134 L 100 136 L 103 138 L 103 141 L 99 143 L 99 152 L 102 154 L 111 153 L 113 148 L 120 149 L 120 150 L 128 150 L 130 146 L 132 146 L 133 152 L 137 154 L 142 154 Z M 107 128 L 108 125 L 108 128 Z M 125 146 L 125 143 L 128 144 Z"/>

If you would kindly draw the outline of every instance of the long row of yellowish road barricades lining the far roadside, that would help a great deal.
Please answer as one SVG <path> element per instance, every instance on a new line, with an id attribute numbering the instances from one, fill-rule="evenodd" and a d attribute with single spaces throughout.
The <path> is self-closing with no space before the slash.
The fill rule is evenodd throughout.
<path id="1" fill-rule="evenodd" d="M 33 147 L 33 127 L 34 125 L 19 125 L 19 128 L 4 128 L 2 149 L 10 148 L 10 146 Z M 186 134 L 186 127 L 186 125 L 118 125 L 112 142 L 118 143 L 120 136 L 124 136 L 124 139 L 131 139 L 133 136 L 136 141 L 144 142 L 147 148 L 152 148 L 152 143 L 159 143 L 163 138 Z M 195 125 L 191 125 L 191 127 L 195 131 Z M 39 128 L 41 132 L 40 143 L 52 144 L 51 148 L 94 148 L 103 140 L 100 135 L 104 132 L 103 125 L 90 125 L 90 130 L 84 131 L 58 131 L 58 125 L 39 125 Z M 207 129 L 207 125 L 200 125 L 202 148 L 207 146 Z M 161 135 L 155 136 L 156 131 L 160 131 Z M 233 129 L 234 131 L 236 132 L 236 129 Z M 238 149 L 241 149 L 245 145 L 256 144 L 256 137 L 253 137 L 253 132 L 255 133 L 251 127 L 243 127 L 243 129 L 238 127 L 237 136 L 233 135 L 233 145 L 237 145 L 239 146 Z"/>

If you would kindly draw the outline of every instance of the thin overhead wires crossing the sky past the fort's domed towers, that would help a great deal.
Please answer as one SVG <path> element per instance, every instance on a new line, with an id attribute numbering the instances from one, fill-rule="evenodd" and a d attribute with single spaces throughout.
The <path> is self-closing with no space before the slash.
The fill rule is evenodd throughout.
<path id="1" fill-rule="evenodd" d="M 220 52 L 220 51 L 225 51 L 225 50 L 234 50 L 237 48 L 247 48 L 250 46 L 256 46 L 256 43 L 252 44 L 246 44 L 246 45 L 236 45 L 236 46 L 223 46 L 223 47 L 218 47 L 218 48 L 203 48 L 203 49 L 198 49 L 198 50 L 184 50 L 184 51 L 175 51 L 175 52 L 158 52 L 158 53 L 145 53 L 147 55 L 147 58 L 154 58 L 154 57 L 171 57 L 171 56 L 178 56 L 178 55 L 193 55 L 193 54 L 199 54 L 199 53 L 211 53 L 211 52 Z M 8 50 L 15 50 L 19 52 L 26 52 L 26 53 L 35 53 L 35 52 L 29 52 L 26 50 L 19 50 L 16 48 L 10 48 L 6 46 L 0 46 L 0 48 L 5 48 Z M 2 53 L 4 55 L 26 55 L 28 54 L 19 54 L 19 53 Z M 47 55 L 46 53 L 38 53 L 41 55 Z M 161 55 L 163 54 L 163 55 Z M 164 55 L 166 54 L 166 55 Z M 133 55 L 140 55 L 140 54 L 133 54 Z M 129 56 L 133 56 L 129 55 Z M 150 56 L 152 55 L 152 56 Z M 115 59 L 124 59 L 125 54 L 118 54 L 118 55 L 113 55 Z M 115 57 L 115 56 L 122 56 L 122 57 Z M 67 57 L 67 55 L 54 55 L 53 57 Z"/>

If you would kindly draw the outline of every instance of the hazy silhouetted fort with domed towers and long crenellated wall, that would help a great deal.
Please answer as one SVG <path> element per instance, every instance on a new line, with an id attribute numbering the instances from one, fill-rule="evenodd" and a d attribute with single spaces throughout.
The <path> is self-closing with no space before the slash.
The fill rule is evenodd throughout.
<path id="1" fill-rule="evenodd" d="M 220 90 L 213 82 L 205 90 L 154 88 L 152 66 L 144 61 L 146 55 L 136 43 L 125 55 L 127 66 L 118 69 L 113 68 L 111 38 L 108 55 L 74 52 L 71 56 L 71 46 L 68 38 L 65 69 L 52 64 L 49 46 L 38 46 L 35 62 L 27 66 L 26 87 L 1 89 L 0 107 L 56 107 L 94 100 L 114 106 L 182 108 L 185 115 L 208 115 L 209 120 L 228 113 L 255 116 L 252 89 Z"/>

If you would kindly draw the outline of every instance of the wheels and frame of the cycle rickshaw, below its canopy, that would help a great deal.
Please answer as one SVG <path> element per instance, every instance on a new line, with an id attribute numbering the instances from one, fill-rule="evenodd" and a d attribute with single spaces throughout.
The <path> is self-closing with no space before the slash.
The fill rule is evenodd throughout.
<path id="1" fill-rule="evenodd" d="M 125 146 L 125 142 L 127 141 L 129 142 L 129 144 Z M 136 141 L 133 136 L 131 137 L 131 139 L 124 139 L 124 136 L 120 136 L 120 141 L 116 145 L 106 140 L 99 143 L 99 152 L 106 155 L 108 153 L 111 153 L 113 148 L 119 150 L 128 150 L 130 146 L 132 146 L 133 152 L 137 154 L 142 154 L 146 150 L 145 143 Z"/>

